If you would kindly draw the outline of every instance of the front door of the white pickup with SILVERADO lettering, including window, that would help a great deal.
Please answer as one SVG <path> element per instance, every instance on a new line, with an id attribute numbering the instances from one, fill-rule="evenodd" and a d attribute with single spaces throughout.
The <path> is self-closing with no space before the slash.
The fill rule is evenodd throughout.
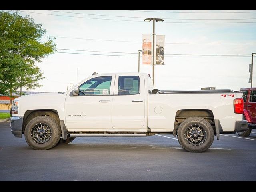
<path id="1" fill-rule="evenodd" d="M 94 76 L 82 83 L 79 95 L 66 96 L 65 117 L 69 130 L 113 130 L 111 122 L 115 75 Z"/>

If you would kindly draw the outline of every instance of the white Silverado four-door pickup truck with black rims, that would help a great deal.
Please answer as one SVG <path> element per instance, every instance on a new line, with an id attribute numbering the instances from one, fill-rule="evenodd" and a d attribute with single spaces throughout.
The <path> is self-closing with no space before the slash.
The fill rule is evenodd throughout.
<path id="1" fill-rule="evenodd" d="M 145 73 L 93 74 L 64 93 L 16 98 L 10 127 L 37 150 L 75 137 L 177 135 L 184 150 L 204 152 L 216 135 L 246 131 L 242 93 L 153 88 Z"/>

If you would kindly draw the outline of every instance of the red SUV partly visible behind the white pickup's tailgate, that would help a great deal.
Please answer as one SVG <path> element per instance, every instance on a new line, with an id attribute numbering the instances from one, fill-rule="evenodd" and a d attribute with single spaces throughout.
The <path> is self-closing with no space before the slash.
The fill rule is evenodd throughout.
<path id="1" fill-rule="evenodd" d="M 256 128 L 256 87 L 241 88 L 239 92 L 243 93 L 243 118 L 248 121 L 249 129 L 246 132 L 237 132 L 237 134 L 240 136 L 248 137 L 252 129 Z"/>

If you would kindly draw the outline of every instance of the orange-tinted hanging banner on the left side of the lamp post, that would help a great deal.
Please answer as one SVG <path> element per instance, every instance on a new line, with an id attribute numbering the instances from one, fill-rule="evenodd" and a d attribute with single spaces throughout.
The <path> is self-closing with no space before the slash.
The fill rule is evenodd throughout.
<path id="1" fill-rule="evenodd" d="M 152 63 L 152 42 L 151 35 L 142 35 L 142 64 L 151 65 Z"/>

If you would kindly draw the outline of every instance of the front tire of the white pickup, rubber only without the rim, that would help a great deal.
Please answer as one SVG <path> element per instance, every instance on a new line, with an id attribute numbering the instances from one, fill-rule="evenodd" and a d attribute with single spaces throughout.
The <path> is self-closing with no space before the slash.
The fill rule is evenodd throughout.
<path id="1" fill-rule="evenodd" d="M 32 136 L 31 136 L 32 128 L 36 124 L 39 124 L 39 123 L 48 124 L 48 126 L 51 128 L 51 131 L 52 131 L 50 140 L 44 144 L 38 144 L 38 143 L 34 142 L 34 140 L 32 139 Z M 32 120 L 30 120 L 30 122 L 28 122 L 28 124 L 25 128 L 24 135 L 25 135 L 26 142 L 33 149 L 47 150 L 47 149 L 50 149 L 50 148 L 53 148 L 54 146 L 56 146 L 56 144 L 60 140 L 60 128 L 59 128 L 56 120 L 54 120 L 50 116 L 37 116 L 37 117 L 33 118 Z"/>

